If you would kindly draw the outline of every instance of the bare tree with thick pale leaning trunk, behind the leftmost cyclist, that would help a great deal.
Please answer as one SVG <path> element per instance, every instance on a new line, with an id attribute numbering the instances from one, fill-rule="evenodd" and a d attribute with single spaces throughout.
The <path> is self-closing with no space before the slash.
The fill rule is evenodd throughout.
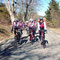
<path id="1" fill-rule="evenodd" d="M 5 0 L 5 6 L 10 14 L 11 22 L 13 22 L 16 14 L 16 0 Z"/>

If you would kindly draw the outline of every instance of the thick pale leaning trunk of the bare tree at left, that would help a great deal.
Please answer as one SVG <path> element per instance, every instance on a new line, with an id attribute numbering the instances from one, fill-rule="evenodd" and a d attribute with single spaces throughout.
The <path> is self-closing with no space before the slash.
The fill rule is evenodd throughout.
<path id="1" fill-rule="evenodd" d="M 10 18 L 11 18 L 11 22 L 13 23 L 14 21 L 14 9 L 15 9 L 15 12 L 16 12 L 16 0 L 15 0 L 15 8 L 14 8 L 14 0 L 12 0 L 12 8 L 11 8 L 11 5 L 10 5 L 10 2 L 8 0 L 8 3 L 7 3 L 7 0 L 5 0 L 5 6 L 10 14 Z"/>

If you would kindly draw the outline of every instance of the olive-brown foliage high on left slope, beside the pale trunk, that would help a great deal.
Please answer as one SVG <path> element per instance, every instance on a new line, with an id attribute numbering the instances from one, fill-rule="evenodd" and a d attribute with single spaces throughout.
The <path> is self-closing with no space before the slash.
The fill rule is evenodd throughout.
<path id="1" fill-rule="evenodd" d="M 8 20 L 8 21 L 7 21 Z M 9 22 L 10 15 L 7 9 L 5 8 L 5 4 L 0 3 L 0 22 Z"/>

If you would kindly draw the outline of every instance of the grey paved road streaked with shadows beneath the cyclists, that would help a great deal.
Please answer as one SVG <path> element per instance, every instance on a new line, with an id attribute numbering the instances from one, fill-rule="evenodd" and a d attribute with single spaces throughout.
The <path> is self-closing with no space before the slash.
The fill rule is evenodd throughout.
<path id="1" fill-rule="evenodd" d="M 25 35 L 26 32 L 24 31 L 22 40 L 26 42 L 29 37 Z M 48 30 L 46 40 L 49 44 L 45 49 L 42 48 L 39 41 L 33 45 L 27 41 L 18 45 L 16 49 L 13 45 L 14 39 L 11 38 L 0 47 L 0 60 L 60 60 L 60 36 Z"/>

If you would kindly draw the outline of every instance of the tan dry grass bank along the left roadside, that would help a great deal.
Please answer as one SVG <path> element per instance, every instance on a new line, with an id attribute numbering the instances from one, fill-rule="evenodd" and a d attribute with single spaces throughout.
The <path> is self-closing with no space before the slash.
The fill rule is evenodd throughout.
<path id="1" fill-rule="evenodd" d="M 11 34 L 11 25 L 0 24 L 0 29 L 2 31 L 0 32 L 0 43 L 8 40 L 13 36 Z"/>

